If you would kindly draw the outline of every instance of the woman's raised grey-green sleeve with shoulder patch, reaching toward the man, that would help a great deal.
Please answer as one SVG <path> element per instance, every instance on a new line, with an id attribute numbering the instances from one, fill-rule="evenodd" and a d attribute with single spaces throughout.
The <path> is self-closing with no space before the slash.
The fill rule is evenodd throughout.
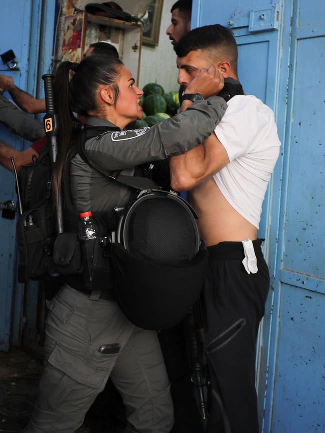
<path id="1" fill-rule="evenodd" d="M 212 96 L 194 102 L 183 113 L 151 128 L 102 134 L 89 140 L 85 150 L 91 160 L 107 171 L 179 155 L 197 146 L 211 134 L 226 107 L 224 99 Z"/>

